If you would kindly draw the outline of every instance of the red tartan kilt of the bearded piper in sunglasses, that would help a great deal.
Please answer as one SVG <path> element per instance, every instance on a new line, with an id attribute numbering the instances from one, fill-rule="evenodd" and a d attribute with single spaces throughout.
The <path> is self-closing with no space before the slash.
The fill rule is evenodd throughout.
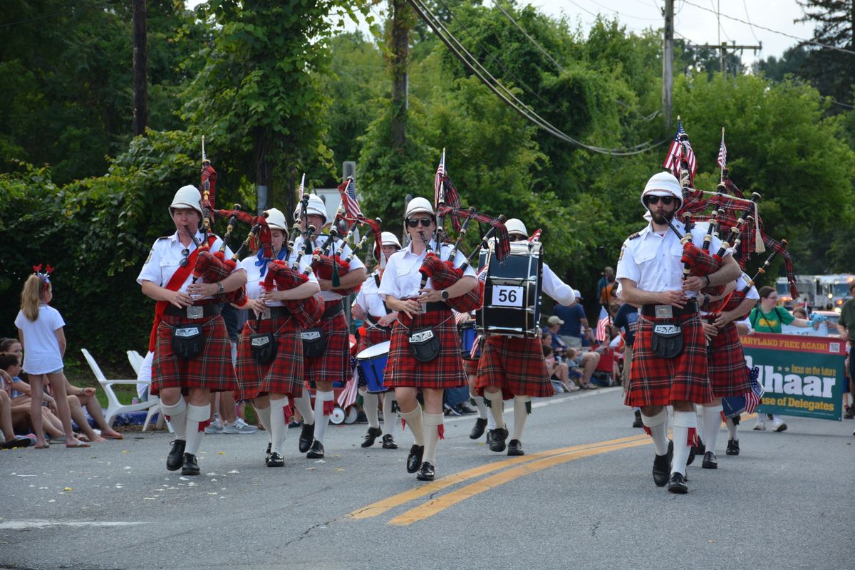
<path id="1" fill-rule="evenodd" d="M 698 314 L 687 315 L 683 350 L 675 358 L 653 354 L 653 320 L 639 317 L 633 344 L 632 382 L 624 403 L 628 406 L 667 406 L 673 402 L 708 403 L 713 399 L 707 379 L 706 341 Z"/>

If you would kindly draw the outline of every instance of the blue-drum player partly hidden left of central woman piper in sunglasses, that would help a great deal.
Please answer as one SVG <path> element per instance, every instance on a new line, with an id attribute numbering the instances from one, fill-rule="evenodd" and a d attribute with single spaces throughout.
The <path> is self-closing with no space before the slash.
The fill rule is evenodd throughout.
<path id="1" fill-rule="evenodd" d="M 359 338 L 359 346 L 357 347 L 357 355 L 363 350 L 374 346 L 375 344 L 385 343 L 392 338 L 392 323 L 398 320 L 398 313 L 386 309 L 383 300 L 377 295 L 380 290 L 380 279 L 383 276 L 384 261 L 392 257 L 396 251 L 401 249 L 401 242 L 395 237 L 392 232 L 382 232 L 380 234 L 382 242 L 382 251 L 380 266 L 374 273 L 365 279 L 362 289 L 357 294 L 356 301 L 351 306 L 351 314 L 354 319 L 363 320 L 365 334 Z M 375 248 L 374 257 L 378 257 L 380 248 Z M 398 444 L 395 443 L 395 438 L 392 437 L 392 429 L 394 429 L 394 420 L 392 420 L 392 400 L 394 400 L 394 392 L 386 392 L 386 394 L 376 394 L 369 392 L 367 387 L 361 387 L 359 393 L 363 396 L 363 410 L 365 416 L 369 420 L 369 432 L 363 438 L 363 447 L 371 447 L 374 445 L 374 440 L 382 436 L 384 450 L 397 450 Z M 377 408 L 379 398 L 383 398 L 383 429 L 380 429 L 380 420 L 377 417 Z"/>

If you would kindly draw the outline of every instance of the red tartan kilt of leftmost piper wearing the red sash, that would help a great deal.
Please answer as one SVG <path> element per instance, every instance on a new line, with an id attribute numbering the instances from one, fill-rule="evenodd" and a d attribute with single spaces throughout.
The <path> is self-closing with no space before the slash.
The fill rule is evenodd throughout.
<path id="1" fill-rule="evenodd" d="M 163 388 L 206 388 L 209 391 L 232 391 L 237 388 L 232 364 L 232 343 L 220 315 L 202 323 L 203 347 L 195 358 L 180 358 L 172 350 L 172 327 L 187 320 L 169 314 L 157 326 L 154 361 L 151 364 L 151 393 Z"/>

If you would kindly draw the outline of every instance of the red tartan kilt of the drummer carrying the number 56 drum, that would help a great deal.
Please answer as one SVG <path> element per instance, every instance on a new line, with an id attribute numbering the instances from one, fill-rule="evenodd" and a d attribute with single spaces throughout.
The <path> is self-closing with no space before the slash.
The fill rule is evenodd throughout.
<path id="1" fill-rule="evenodd" d="M 554 395 L 540 338 L 486 337 L 475 388 L 483 396 L 486 386 L 501 388 L 505 400 Z"/>

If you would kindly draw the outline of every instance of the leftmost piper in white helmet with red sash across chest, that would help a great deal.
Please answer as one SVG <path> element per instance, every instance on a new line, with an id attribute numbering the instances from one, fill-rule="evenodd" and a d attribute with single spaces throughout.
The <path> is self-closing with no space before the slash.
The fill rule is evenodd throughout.
<path id="1" fill-rule="evenodd" d="M 204 204 L 205 211 L 213 208 L 212 196 Z M 151 392 L 160 395 L 163 413 L 175 431 L 167 469 L 198 475 L 196 454 L 209 420 L 209 392 L 235 389 L 232 345 L 220 315 L 221 296 L 239 291 L 246 273 L 235 267 L 230 273 L 220 272 L 222 279 L 199 279 L 198 262 L 217 265 L 210 250 L 220 249 L 223 242 L 207 233 L 207 218 L 206 232 L 199 232 L 203 201 L 195 186 L 175 192 L 169 215 L 175 233 L 157 239 L 137 283 L 145 296 L 157 302 L 149 347 L 154 352 Z M 231 256 L 228 248 L 224 251 Z"/>

